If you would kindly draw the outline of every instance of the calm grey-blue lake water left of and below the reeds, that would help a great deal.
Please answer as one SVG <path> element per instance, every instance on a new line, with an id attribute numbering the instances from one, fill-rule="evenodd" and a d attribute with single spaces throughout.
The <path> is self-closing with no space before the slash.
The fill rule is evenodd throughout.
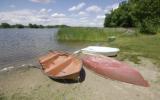
<path id="1" fill-rule="evenodd" d="M 38 57 L 49 50 L 73 52 L 91 42 L 59 42 L 58 29 L 0 29 L 0 69 L 38 64 Z"/>

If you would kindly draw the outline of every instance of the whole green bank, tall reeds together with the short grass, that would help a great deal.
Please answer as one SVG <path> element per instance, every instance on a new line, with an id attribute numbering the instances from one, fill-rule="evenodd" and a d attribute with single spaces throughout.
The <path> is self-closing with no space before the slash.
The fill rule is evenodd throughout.
<path id="1" fill-rule="evenodd" d="M 115 36 L 115 41 L 108 38 Z M 119 59 L 139 62 L 138 56 L 154 59 L 160 65 L 160 34 L 144 35 L 135 29 L 125 28 L 61 28 L 59 40 L 69 41 L 105 41 L 103 45 L 118 47 Z"/>

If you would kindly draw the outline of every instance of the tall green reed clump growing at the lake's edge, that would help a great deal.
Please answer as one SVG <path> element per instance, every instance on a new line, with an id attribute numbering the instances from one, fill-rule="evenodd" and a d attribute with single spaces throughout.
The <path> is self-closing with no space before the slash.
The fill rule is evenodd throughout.
<path id="1" fill-rule="evenodd" d="M 107 41 L 109 36 L 124 33 L 125 29 L 116 28 L 84 28 L 70 27 L 60 28 L 57 34 L 58 40 L 69 41 Z"/>

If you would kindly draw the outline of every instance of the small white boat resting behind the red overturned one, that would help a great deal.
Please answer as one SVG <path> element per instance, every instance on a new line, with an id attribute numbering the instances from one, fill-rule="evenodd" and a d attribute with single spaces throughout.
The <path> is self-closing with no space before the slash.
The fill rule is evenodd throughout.
<path id="1" fill-rule="evenodd" d="M 88 46 L 81 49 L 83 53 L 101 54 L 105 56 L 116 56 L 120 51 L 119 48 L 101 47 L 101 46 Z"/>

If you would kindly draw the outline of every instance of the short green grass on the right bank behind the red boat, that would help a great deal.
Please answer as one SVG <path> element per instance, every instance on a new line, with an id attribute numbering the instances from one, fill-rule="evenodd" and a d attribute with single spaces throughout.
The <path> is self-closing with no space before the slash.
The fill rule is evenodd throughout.
<path id="1" fill-rule="evenodd" d="M 119 37 L 112 46 L 121 49 L 121 57 L 138 61 L 137 56 L 160 60 L 160 34 Z"/>

